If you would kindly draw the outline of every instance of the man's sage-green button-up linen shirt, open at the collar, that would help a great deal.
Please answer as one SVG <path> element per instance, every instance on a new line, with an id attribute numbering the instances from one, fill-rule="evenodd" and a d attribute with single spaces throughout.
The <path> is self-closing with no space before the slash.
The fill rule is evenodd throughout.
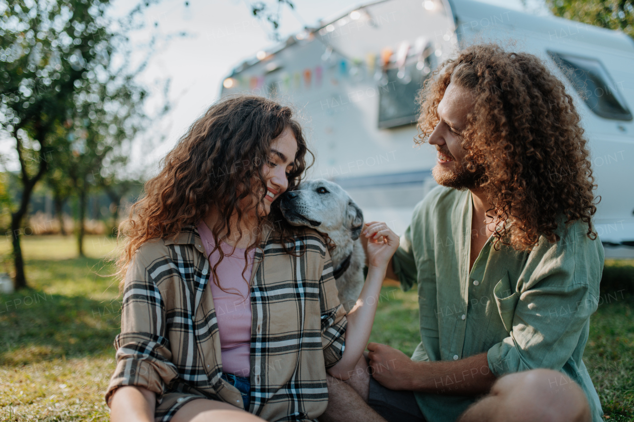
<path id="1" fill-rule="evenodd" d="M 415 208 L 394 255 L 404 290 L 418 283 L 421 342 L 415 361 L 452 361 L 487 352 L 495 376 L 556 369 L 588 397 L 594 422 L 602 421 L 597 392 L 581 357 L 590 315 L 597 309 L 603 271 L 601 242 L 581 221 L 559 224 L 560 240 L 543 236 L 531 252 L 493 238 L 469 272 L 470 191 L 439 186 Z M 439 394 L 415 393 L 430 422 L 455 421 L 477 398 L 459 395 L 455 380 L 439 381 Z M 552 380 L 555 388 L 567 388 Z M 458 394 L 458 395 L 456 395 Z"/>

